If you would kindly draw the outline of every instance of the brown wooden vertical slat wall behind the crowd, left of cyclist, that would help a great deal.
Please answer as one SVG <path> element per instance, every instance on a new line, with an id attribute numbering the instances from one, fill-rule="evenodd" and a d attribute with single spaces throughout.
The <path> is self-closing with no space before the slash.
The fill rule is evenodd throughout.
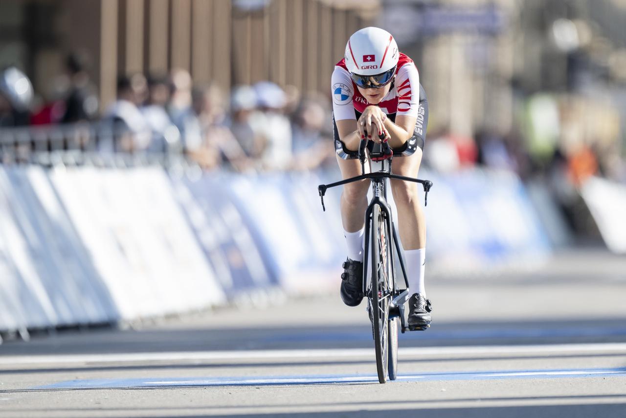
<path id="1" fill-rule="evenodd" d="M 184 68 L 197 85 L 227 88 L 270 80 L 327 93 L 347 38 L 371 24 L 319 0 L 272 0 L 255 10 L 232 0 L 101 0 L 101 6 L 107 24 L 112 9 L 117 16 L 103 38 L 101 58 L 109 68 L 115 63 L 117 73 L 148 74 Z M 115 76 L 101 77 L 103 97 L 115 95 Z"/>

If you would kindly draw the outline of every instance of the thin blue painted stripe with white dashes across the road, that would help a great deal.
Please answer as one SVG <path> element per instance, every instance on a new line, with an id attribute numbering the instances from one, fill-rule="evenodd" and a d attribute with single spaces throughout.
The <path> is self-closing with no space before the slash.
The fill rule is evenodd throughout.
<path id="1" fill-rule="evenodd" d="M 556 370 L 485 370 L 481 372 L 447 372 L 403 374 L 403 382 L 435 382 L 443 380 L 501 380 L 501 379 L 555 379 L 575 377 L 626 377 L 626 368 L 582 368 Z M 376 375 L 304 375 L 304 376 L 237 376 L 237 377 L 173 377 L 162 379 L 95 379 L 68 380 L 34 387 L 50 389 L 128 389 L 155 387 L 211 387 L 211 386 L 274 386 L 319 385 L 377 382 Z"/>

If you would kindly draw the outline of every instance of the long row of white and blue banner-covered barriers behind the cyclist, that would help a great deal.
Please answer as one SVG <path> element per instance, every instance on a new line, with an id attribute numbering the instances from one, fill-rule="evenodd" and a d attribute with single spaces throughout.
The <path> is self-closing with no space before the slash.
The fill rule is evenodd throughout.
<path id="1" fill-rule="evenodd" d="M 0 332 L 136 321 L 284 293 L 336 290 L 338 174 L 0 165 Z M 429 268 L 550 253 L 512 174 L 432 179 Z"/>

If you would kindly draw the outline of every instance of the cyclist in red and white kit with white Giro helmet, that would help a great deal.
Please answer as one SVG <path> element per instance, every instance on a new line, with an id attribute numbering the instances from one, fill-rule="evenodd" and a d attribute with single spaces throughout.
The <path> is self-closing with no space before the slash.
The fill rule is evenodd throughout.
<path id="1" fill-rule="evenodd" d="M 344 59 L 332 73 L 332 108 L 337 162 L 344 179 L 361 174 L 357 159 L 362 140 L 381 142 L 394 150 L 395 174 L 417 177 L 428 124 L 428 102 L 419 84 L 413 60 L 398 51 L 389 32 L 364 28 L 352 34 Z M 371 143 L 370 143 L 371 145 Z M 367 165 L 366 165 L 367 167 Z M 361 303 L 363 278 L 364 217 L 370 182 L 344 185 L 341 217 L 348 257 L 341 274 L 341 298 L 348 306 Z M 431 323 L 432 306 L 424 289 L 426 225 L 418 187 L 391 180 L 398 209 L 399 233 L 404 248 L 409 288 L 408 325 L 425 329 Z"/>

